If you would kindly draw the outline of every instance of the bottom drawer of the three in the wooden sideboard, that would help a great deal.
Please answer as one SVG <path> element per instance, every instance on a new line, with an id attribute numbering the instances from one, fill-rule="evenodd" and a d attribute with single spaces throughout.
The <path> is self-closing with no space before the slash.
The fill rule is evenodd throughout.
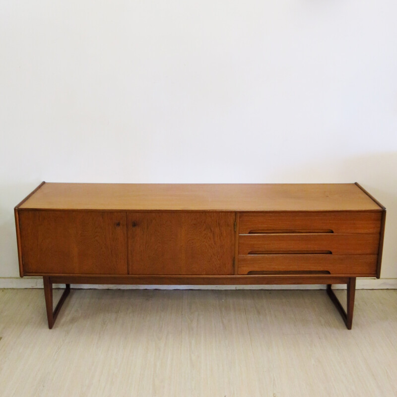
<path id="1" fill-rule="evenodd" d="M 377 255 L 239 255 L 238 274 L 340 274 L 375 276 Z"/>

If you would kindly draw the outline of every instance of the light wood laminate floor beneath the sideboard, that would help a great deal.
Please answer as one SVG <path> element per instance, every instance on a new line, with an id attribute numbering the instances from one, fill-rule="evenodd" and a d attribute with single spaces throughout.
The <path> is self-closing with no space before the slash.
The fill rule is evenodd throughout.
<path id="1" fill-rule="evenodd" d="M 54 291 L 54 298 L 61 291 Z M 336 291 L 345 301 L 345 291 Z M 0 290 L 0 396 L 397 396 L 397 290 Z"/>

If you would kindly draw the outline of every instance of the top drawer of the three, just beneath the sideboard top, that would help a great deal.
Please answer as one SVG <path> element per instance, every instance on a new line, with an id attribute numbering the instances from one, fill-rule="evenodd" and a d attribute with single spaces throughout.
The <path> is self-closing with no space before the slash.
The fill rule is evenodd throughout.
<path id="1" fill-rule="evenodd" d="M 380 233 L 382 212 L 241 212 L 239 233 Z"/>

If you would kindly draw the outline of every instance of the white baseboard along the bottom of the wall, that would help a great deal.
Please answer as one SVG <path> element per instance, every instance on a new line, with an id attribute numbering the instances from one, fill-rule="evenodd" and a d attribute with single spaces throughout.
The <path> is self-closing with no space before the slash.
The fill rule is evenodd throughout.
<path id="1" fill-rule="evenodd" d="M 65 285 L 54 285 L 63 288 Z M 304 285 L 96 285 L 72 284 L 72 288 L 85 289 L 325 289 L 321 284 Z M 41 277 L 0 277 L 0 288 L 43 288 Z M 346 285 L 334 285 L 344 289 Z M 356 289 L 397 289 L 397 278 L 358 278 Z"/>

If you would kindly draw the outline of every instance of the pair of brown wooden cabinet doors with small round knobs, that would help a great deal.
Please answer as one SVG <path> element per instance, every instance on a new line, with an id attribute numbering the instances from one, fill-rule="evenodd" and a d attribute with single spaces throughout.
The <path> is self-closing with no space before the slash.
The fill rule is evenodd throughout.
<path id="1" fill-rule="evenodd" d="M 233 212 L 23 210 L 24 275 L 233 274 Z"/>

